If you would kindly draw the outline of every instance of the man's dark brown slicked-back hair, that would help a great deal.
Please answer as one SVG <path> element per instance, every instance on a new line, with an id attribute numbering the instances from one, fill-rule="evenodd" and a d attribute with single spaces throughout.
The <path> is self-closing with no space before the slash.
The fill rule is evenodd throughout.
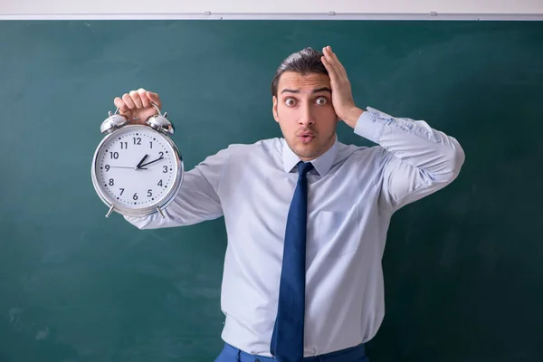
<path id="1" fill-rule="evenodd" d="M 324 54 L 322 52 L 317 52 L 312 48 L 305 48 L 300 52 L 295 52 L 289 55 L 287 59 L 281 62 L 281 65 L 275 72 L 273 81 L 271 81 L 271 95 L 277 95 L 277 84 L 279 83 L 281 74 L 285 71 L 294 71 L 300 73 L 301 75 L 310 73 L 322 73 L 328 75 L 326 67 L 320 61 L 320 57 L 323 55 Z"/>

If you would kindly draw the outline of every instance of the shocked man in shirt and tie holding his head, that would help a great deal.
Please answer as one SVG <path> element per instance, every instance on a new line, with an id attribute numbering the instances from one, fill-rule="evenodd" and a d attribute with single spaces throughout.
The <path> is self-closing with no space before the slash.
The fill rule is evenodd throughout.
<path id="1" fill-rule="evenodd" d="M 233 145 L 185 175 L 165 218 L 140 229 L 224 215 L 228 244 L 216 361 L 367 361 L 384 317 L 381 258 L 392 214 L 447 186 L 464 154 L 424 121 L 358 108 L 330 47 L 292 54 L 271 84 L 284 138 Z M 155 113 L 156 93 L 115 99 L 130 119 Z M 378 146 L 347 146 L 338 121 Z"/>

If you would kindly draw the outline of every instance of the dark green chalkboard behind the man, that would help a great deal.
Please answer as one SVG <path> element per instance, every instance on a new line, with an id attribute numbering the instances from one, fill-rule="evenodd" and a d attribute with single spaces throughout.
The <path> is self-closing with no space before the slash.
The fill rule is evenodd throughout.
<path id="1" fill-rule="evenodd" d="M 0 361 L 213 361 L 223 220 L 106 219 L 90 182 L 100 123 L 115 96 L 157 91 L 192 168 L 280 136 L 273 72 L 326 44 L 357 105 L 424 119 L 467 157 L 451 186 L 393 217 L 372 362 L 543 360 L 543 23 L 5 21 Z"/>

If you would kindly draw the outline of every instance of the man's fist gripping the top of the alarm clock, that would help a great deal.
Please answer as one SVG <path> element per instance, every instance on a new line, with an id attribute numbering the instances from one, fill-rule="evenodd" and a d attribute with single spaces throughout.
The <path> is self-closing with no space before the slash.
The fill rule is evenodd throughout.
<path id="1" fill-rule="evenodd" d="M 157 114 L 157 109 L 150 102 L 157 104 L 158 109 L 162 107 L 158 94 L 143 88 L 130 90 L 129 94 L 113 100 L 119 113 L 128 117 L 132 124 L 144 124 L 150 116 Z"/>

